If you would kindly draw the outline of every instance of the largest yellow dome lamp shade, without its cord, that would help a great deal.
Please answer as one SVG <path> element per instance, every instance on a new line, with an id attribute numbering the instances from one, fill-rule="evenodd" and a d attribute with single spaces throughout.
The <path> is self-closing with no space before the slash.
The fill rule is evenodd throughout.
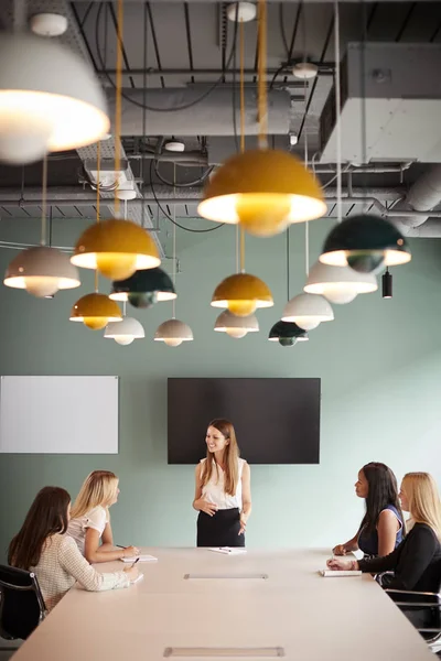
<path id="1" fill-rule="evenodd" d="M 250 150 L 230 156 L 209 177 L 197 213 L 270 237 L 291 223 L 320 218 L 326 208 L 319 182 L 302 161 L 280 150 Z"/>

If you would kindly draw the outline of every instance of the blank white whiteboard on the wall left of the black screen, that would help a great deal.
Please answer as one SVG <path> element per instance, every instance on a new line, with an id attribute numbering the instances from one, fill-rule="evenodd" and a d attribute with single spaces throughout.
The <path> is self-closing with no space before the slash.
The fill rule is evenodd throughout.
<path id="1" fill-rule="evenodd" d="M 0 453 L 118 454 L 118 377 L 1 377 Z"/>

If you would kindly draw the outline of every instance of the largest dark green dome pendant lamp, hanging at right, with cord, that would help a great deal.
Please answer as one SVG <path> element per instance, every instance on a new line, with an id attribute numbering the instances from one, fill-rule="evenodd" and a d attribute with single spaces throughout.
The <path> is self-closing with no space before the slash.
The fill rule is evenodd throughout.
<path id="1" fill-rule="evenodd" d="M 337 165 L 342 162 L 341 148 L 341 87 L 340 87 L 340 25 L 338 3 L 335 2 L 335 106 L 337 126 Z M 363 51 L 363 57 L 365 50 Z M 363 67 L 366 63 L 362 63 Z M 364 95 L 365 96 L 365 95 Z M 366 104 L 363 98 L 362 102 Z M 363 163 L 366 163 L 366 111 L 362 112 L 362 147 Z M 337 171 L 338 175 L 338 171 Z M 337 176 L 337 191 L 341 172 Z M 340 199 L 341 204 L 341 199 Z M 388 220 L 374 215 L 353 216 L 341 221 L 329 234 L 320 256 L 320 261 L 333 267 L 349 267 L 358 273 L 377 273 L 384 267 L 395 267 L 411 260 L 410 249 L 397 230 Z"/>

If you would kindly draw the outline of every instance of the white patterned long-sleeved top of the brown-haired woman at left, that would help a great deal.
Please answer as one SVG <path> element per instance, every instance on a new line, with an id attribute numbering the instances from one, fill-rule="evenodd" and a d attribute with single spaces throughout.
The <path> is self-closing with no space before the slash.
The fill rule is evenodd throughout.
<path id="1" fill-rule="evenodd" d="M 79 553 L 67 534 L 54 534 L 45 543 L 35 572 L 47 610 L 51 610 L 78 581 L 90 592 L 128 587 L 123 572 L 100 574 Z"/>

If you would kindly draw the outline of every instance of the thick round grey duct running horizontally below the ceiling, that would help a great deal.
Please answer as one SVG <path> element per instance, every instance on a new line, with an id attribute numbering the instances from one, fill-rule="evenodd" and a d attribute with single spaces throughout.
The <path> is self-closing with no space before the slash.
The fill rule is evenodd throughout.
<path id="1" fill-rule="evenodd" d="M 147 105 L 161 108 L 160 111 L 146 110 L 146 127 L 149 136 L 234 136 L 240 131 L 240 111 L 236 95 L 236 127 L 233 113 L 232 87 L 211 91 L 201 101 L 204 94 L 201 87 L 175 89 L 125 89 L 125 97 L 141 104 L 147 97 Z M 110 117 L 115 117 L 115 90 L 107 91 Z M 196 101 L 196 102 L 195 102 Z M 191 105 L 194 104 L 194 105 Z M 186 109 L 170 111 L 172 108 L 189 106 Z M 288 134 L 290 129 L 291 96 L 286 90 L 268 90 L 268 133 Z M 257 117 L 257 90 L 245 90 L 245 134 L 257 136 L 259 123 Z M 140 106 L 122 99 L 121 117 L 122 136 L 142 136 L 143 118 Z"/>

